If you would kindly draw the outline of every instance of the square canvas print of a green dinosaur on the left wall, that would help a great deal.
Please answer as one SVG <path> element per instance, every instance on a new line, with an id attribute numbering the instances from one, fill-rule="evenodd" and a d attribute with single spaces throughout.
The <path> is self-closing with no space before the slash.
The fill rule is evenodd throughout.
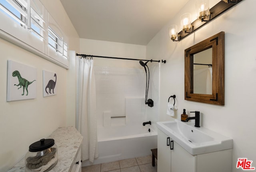
<path id="1" fill-rule="evenodd" d="M 36 68 L 8 60 L 7 101 L 36 98 L 36 77 Z"/>

